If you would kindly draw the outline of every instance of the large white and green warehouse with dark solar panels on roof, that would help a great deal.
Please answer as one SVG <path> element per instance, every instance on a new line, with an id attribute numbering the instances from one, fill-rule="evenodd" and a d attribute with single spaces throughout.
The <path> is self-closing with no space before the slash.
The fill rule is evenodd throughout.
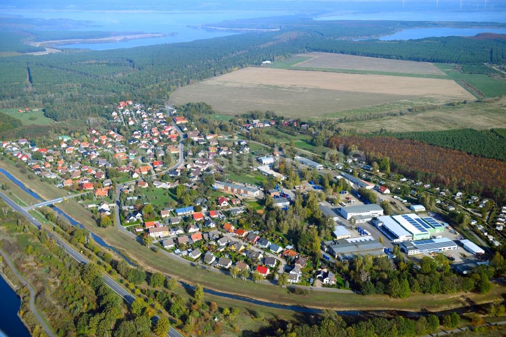
<path id="1" fill-rule="evenodd" d="M 443 225 L 433 218 L 420 218 L 416 214 L 378 217 L 374 226 L 392 242 L 429 239 L 441 235 L 444 231 Z"/>

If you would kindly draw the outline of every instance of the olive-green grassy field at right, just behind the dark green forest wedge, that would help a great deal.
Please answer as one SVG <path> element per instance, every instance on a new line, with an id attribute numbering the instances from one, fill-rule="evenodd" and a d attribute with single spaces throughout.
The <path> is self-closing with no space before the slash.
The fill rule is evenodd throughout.
<path id="1" fill-rule="evenodd" d="M 506 98 L 492 102 L 471 102 L 443 106 L 417 114 L 392 116 L 340 124 L 343 129 L 369 133 L 381 129 L 387 132 L 437 131 L 450 129 L 486 130 L 506 128 Z"/>

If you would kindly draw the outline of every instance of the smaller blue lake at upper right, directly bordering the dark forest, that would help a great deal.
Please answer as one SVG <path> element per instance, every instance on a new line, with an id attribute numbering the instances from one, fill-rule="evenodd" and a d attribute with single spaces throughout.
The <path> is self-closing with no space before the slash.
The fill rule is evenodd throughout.
<path id="1" fill-rule="evenodd" d="M 410 40 L 416 38 L 432 37 L 432 36 L 475 36 L 479 33 L 497 33 L 506 34 L 506 29 L 493 28 L 414 28 L 404 29 L 395 34 L 382 36 L 379 39 L 384 41 L 390 40 Z"/>

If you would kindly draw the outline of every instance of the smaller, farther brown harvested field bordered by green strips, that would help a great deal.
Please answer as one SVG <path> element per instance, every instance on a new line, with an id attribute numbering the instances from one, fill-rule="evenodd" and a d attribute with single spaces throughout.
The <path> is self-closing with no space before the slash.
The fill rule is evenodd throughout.
<path id="1" fill-rule="evenodd" d="M 443 71 L 429 62 L 389 60 L 379 59 L 375 57 L 333 53 L 309 53 L 299 55 L 299 57 L 302 56 L 311 58 L 303 62 L 293 64 L 293 67 L 357 69 L 427 75 L 445 75 Z"/>

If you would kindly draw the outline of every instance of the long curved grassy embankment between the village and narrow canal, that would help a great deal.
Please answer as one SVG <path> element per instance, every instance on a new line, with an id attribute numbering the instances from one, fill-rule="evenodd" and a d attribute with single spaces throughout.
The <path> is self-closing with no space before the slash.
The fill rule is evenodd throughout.
<path id="1" fill-rule="evenodd" d="M 10 173 L 15 177 L 18 176 L 17 172 L 13 171 Z M 53 191 L 54 189 L 58 190 L 56 186 L 52 186 L 50 184 L 46 184 L 45 189 L 42 191 L 39 191 L 38 185 L 37 187 L 33 187 L 33 190 L 40 194 L 46 190 L 49 190 L 50 193 L 56 193 Z M 134 261 L 147 270 L 160 271 L 164 274 L 174 276 L 189 283 L 200 283 L 204 287 L 210 289 L 240 294 L 242 296 L 263 300 L 269 303 L 316 308 L 332 308 L 336 310 L 439 311 L 467 306 L 469 301 L 477 304 L 490 302 L 499 297 L 500 294 L 504 293 L 504 287 L 494 286 L 492 291 L 485 295 L 475 293 L 452 295 L 429 295 L 418 293 L 405 300 L 396 300 L 387 296 L 363 297 L 358 294 L 323 291 L 311 291 L 308 296 L 299 296 L 290 294 L 287 290 L 276 286 L 256 284 L 250 281 L 245 282 L 240 279 L 233 279 L 231 277 L 224 276 L 220 273 L 189 267 L 184 263 L 164 256 L 160 252 L 154 252 L 151 249 L 146 248 L 131 238 L 126 237 L 126 235 L 121 232 L 118 233 L 118 230 L 115 227 L 98 227 L 92 218 L 92 214 L 74 200 L 62 202 L 58 205 L 58 207 L 64 210 L 64 212 L 72 218 L 78 220 L 86 228 L 100 236 L 108 244 L 116 248 L 124 249 Z M 241 301 L 227 301 L 233 301 L 246 305 Z M 219 303 L 219 301 L 217 301 L 217 303 Z M 219 303 L 219 305 L 221 304 Z M 250 305 L 247 304 L 246 306 Z"/>

